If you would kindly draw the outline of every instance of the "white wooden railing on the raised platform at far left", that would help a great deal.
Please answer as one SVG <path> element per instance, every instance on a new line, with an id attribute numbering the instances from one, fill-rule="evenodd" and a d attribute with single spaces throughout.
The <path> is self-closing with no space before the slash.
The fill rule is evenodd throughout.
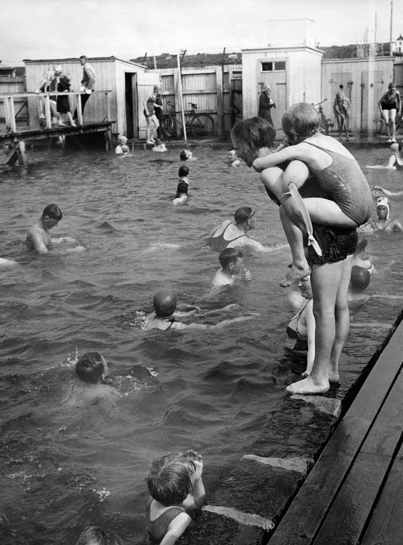
<path id="1" fill-rule="evenodd" d="M 106 99 L 106 112 L 105 116 L 102 119 L 103 121 L 111 121 L 111 106 L 109 100 L 109 93 L 111 90 L 107 91 L 93 91 L 93 93 L 104 93 Z M 45 126 L 46 129 L 52 128 L 52 113 L 50 109 L 50 96 L 75 96 L 76 97 L 76 107 L 77 107 L 77 126 L 82 126 L 82 110 L 81 110 L 81 99 L 80 95 L 85 95 L 85 91 L 72 91 L 68 93 L 57 93 L 52 91 L 51 93 L 13 93 L 8 95 L 0 95 L 0 101 L 4 102 L 4 113 L 5 113 L 5 124 L 9 132 L 17 132 L 16 126 L 16 116 L 15 113 L 15 104 L 14 99 L 29 99 L 36 98 L 38 100 L 38 110 L 41 111 L 41 101 L 44 101 L 44 110 L 45 110 Z"/>

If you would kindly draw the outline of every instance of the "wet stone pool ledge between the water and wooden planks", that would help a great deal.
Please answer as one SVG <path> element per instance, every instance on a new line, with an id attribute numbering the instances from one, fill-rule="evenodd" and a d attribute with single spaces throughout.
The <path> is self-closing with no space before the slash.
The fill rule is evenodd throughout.
<path id="1" fill-rule="evenodd" d="M 390 275 L 403 281 L 403 262 Z M 352 317 L 340 360 L 341 383 L 323 396 L 285 395 L 258 439 L 215 490 L 184 532 L 183 545 L 266 545 L 306 475 L 324 449 L 352 399 L 403 315 L 403 297 L 382 286 Z M 389 292 L 388 292 L 389 289 Z M 403 350 L 403 347 L 402 347 Z M 352 356 L 352 357 L 351 357 Z M 353 360 L 353 362 L 352 362 Z M 287 383 L 298 379 L 303 359 L 296 354 Z M 284 376 L 284 370 L 281 371 Z M 284 387 L 286 384 L 284 385 Z"/>

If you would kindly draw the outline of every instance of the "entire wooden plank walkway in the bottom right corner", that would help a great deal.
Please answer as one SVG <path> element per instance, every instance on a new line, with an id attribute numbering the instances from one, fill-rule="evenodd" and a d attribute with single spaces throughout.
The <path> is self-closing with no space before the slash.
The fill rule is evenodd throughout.
<path id="1" fill-rule="evenodd" d="M 403 543 L 403 322 L 269 545 Z"/>

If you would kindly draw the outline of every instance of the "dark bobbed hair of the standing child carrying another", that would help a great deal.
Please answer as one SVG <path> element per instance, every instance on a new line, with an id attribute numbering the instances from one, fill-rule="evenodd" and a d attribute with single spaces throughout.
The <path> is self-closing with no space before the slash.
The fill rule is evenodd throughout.
<path id="1" fill-rule="evenodd" d="M 256 150 L 272 148 L 275 139 L 275 130 L 270 123 L 261 117 L 244 119 L 237 123 L 231 131 L 231 140 L 235 147 L 243 147 L 246 165 L 251 166 L 255 159 Z M 242 157 L 242 155 L 238 156 Z"/>

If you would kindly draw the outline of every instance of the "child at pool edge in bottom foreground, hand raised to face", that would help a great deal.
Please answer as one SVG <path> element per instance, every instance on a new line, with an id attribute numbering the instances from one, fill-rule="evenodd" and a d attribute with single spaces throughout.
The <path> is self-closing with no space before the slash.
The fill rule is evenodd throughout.
<path id="1" fill-rule="evenodd" d="M 169 453 L 151 464 L 146 521 L 152 542 L 173 545 L 189 526 L 188 512 L 200 508 L 206 498 L 202 471 L 203 459 L 194 450 Z"/>

